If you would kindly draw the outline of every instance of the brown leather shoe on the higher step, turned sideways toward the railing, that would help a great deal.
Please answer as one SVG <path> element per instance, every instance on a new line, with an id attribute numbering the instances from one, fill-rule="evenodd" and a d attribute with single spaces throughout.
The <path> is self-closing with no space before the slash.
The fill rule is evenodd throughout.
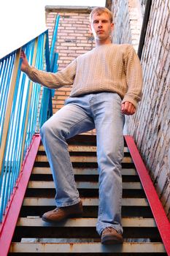
<path id="1" fill-rule="evenodd" d="M 69 217 L 80 217 L 82 214 L 82 201 L 66 207 L 57 207 L 53 211 L 47 211 L 42 215 L 45 222 L 61 222 Z"/>

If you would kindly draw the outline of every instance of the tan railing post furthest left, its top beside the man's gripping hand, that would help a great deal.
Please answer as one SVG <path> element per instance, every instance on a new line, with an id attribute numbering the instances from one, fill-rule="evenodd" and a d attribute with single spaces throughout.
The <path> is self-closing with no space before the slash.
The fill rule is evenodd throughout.
<path id="1" fill-rule="evenodd" d="M 1 170 L 2 170 L 2 165 L 3 165 L 3 159 L 4 159 L 4 151 L 5 151 L 6 142 L 7 142 L 7 133 L 8 133 L 8 129 L 9 129 L 10 113 L 12 110 L 12 102 L 13 102 L 13 97 L 14 97 L 14 92 L 15 92 L 15 83 L 17 80 L 19 63 L 20 63 L 20 49 L 17 50 L 16 57 L 15 57 L 14 69 L 13 69 L 13 73 L 12 73 L 12 80 L 11 80 L 11 84 L 10 84 L 10 88 L 9 88 L 7 110 L 6 110 L 5 119 L 4 119 L 4 127 L 2 130 L 3 136 L 1 138 L 1 148 L 0 148 L 0 176 L 1 176 Z"/>

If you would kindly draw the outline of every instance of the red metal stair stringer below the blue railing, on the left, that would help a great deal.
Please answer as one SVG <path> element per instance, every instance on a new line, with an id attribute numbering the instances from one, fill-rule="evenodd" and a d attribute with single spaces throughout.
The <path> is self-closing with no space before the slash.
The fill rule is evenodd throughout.
<path id="1" fill-rule="evenodd" d="M 39 149 L 40 141 L 40 135 L 34 135 L 31 146 L 28 149 L 26 159 L 23 162 L 23 167 L 20 172 L 18 182 L 15 186 L 15 191 L 13 192 L 12 198 L 9 202 L 7 213 L 4 216 L 3 222 L 0 224 L 1 256 L 7 256 L 8 254 L 9 246 L 11 244 L 12 236 L 15 231 L 18 216 L 20 214 L 20 208 L 22 206 L 23 198 L 26 192 L 26 187 L 31 176 L 31 171 L 34 167 L 34 162 L 36 159 L 37 151 Z"/>

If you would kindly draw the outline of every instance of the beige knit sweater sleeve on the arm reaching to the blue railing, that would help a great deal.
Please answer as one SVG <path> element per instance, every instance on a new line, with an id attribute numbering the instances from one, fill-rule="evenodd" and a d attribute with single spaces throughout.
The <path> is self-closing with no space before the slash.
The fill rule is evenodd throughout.
<path id="1" fill-rule="evenodd" d="M 28 67 L 26 75 L 35 83 L 40 83 L 50 89 L 58 89 L 62 86 L 70 86 L 74 83 L 76 74 L 76 60 L 72 61 L 66 68 L 56 73 L 45 72 L 35 67 Z"/>

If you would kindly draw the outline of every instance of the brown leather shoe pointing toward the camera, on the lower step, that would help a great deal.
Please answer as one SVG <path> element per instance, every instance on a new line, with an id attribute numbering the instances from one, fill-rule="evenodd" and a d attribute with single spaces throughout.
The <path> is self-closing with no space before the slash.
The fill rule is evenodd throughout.
<path id="1" fill-rule="evenodd" d="M 113 227 L 106 227 L 101 233 L 101 244 L 123 244 L 123 236 Z"/>

